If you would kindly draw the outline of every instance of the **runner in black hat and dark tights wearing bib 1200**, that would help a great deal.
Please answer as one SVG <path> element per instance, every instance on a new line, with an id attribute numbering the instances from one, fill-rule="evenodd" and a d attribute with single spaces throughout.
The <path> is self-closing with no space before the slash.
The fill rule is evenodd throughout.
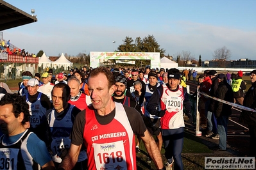
<path id="1" fill-rule="evenodd" d="M 171 169 L 173 162 L 176 162 L 175 169 L 183 169 L 181 155 L 185 127 L 183 105 L 188 113 L 191 112 L 191 105 L 187 89 L 183 88 L 179 83 L 180 73 L 178 73 L 178 69 L 170 69 L 168 72 L 168 83 L 162 84 L 162 86 L 157 88 L 146 108 L 151 114 L 162 117 L 160 125 L 166 149 L 166 169 Z M 160 109 L 158 109 L 159 105 Z"/>

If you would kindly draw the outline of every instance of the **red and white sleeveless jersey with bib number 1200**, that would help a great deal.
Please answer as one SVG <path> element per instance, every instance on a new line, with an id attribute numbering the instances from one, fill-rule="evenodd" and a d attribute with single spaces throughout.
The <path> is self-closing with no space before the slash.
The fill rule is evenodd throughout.
<path id="1" fill-rule="evenodd" d="M 177 91 L 171 91 L 163 84 L 163 92 L 160 100 L 161 110 L 166 109 L 166 114 L 161 118 L 162 129 L 175 129 L 185 127 L 183 120 L 183 87 L 178 85 Z"/>

